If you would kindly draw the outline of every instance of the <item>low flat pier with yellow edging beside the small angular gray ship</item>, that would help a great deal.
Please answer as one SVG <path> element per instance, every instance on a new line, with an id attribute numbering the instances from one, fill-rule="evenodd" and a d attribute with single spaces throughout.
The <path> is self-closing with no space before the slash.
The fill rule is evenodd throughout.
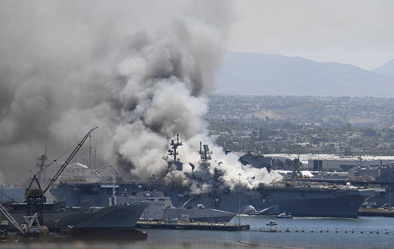
<path id="1" fill-rule="evenodd" d="M 216 231 L 243 231 L 249 230 L 245 224 L 220 224 L 220 223 L 165 223 L 138 221 L 136 228 L 144 229 L 184 229 L 184 230 L 216 230 Z"/>

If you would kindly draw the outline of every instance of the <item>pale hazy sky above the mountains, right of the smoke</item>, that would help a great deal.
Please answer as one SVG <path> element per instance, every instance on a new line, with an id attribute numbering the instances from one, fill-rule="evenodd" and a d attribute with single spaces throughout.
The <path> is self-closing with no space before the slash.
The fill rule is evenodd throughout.
<path id="1" fill-rule="evenodd" d="M 373 70 L 394 58 L 392 0 L 236 0 L 233 51 Z"/>

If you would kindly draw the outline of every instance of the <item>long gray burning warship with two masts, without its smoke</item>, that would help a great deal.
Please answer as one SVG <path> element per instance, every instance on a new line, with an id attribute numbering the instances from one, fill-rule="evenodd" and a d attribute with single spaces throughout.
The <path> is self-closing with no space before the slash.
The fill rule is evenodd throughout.
<path id="1" fill-rule="evenodd" d="M 168 154 L 174 160 L 169 162 L 169 168 L 182 170 L 182 162 L 177 158 L 177 148 L 181 145 L 179 137 L 176 142 L 171 141 Z M 191 209 L 203 206 L 232 213 L 271 215 L 286 211 L 293 216 L 321 217 L 357 217 L 362 203 L 375 194 L 374 189 L 297 181 L 260 183 L 253 189 L 242 186 L 230 188 L 221 180 L 223 172 L 219 167 L 215 167 L 214 173 L 210 173 L 209 168 L 213 166 L 209 164 L 212 152 L 209 151 L 208 145 L 201 146 L 200 143 L 199 153 L 201 162 L 198 170 L 190 164 L 191 173 L 185 175 L 197 184 L 211 185 L 210 190 L 203 194 L 193 194 L 187 186 L 173 185 L 162 185 L 160 189 L 152 191 L 151 183 L 125 182 L 119 175 L 100 175 L 97 172 L 93 175 L 82 173 L 78 176 L 66 176 L 58 186 L 50 189 L 50 193 L 56 199 L 64 199 L 67 205 L 78 205 L 88 201 L 92 205 L 102 206 L 113 193 L 121 201 L 122 197 L 135 198 L 144 191 L 149 197 L 153 192 L 160 192 L 158 198 L 167 198 L 167 201 L 171 199 L 173 207 Z M 86 169 L 88 172 L 90 170 Z M 124 201 L 127 202 L 126 199 Z"/>

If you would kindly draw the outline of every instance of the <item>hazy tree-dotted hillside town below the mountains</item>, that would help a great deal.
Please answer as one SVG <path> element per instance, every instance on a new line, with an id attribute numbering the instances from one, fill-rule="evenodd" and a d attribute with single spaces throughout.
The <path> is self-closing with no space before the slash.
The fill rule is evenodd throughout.
<path id="1" fill-rule="evenodd" d="M 204 116 L 232 151 L 392 155 L 394 99 L 212 96 Z"/>

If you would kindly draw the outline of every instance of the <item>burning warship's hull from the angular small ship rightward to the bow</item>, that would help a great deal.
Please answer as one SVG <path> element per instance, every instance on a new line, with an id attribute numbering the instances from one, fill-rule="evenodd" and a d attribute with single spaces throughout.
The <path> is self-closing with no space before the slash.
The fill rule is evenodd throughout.
<path id="1" fill-rule="evenodd" d="M 183 205 L 190 196 L 171 193 L 174 205 Z M 248 214 L 253 206 L 260 214 L 290 212 L 296 216 L 357 217 L 358 210 L 366 199 L 358 190 L 311 190 L 303 188 L 269 187 L 245 190 L 244 193 L 201 194 L 188 201 L 188 205 L 203 204 L 229 212 Z M 245 210 L 247 210 L 245 212 Z"/>

